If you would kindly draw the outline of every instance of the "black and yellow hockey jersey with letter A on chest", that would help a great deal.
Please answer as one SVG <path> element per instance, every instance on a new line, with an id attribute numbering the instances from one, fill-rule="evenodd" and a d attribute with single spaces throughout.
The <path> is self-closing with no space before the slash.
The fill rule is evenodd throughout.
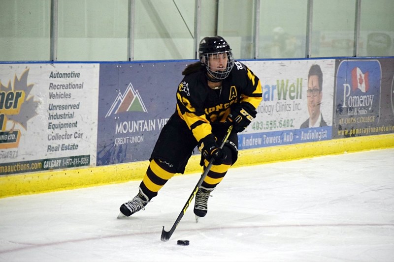
<path id="1" fill-rule="evenodd" d="M 256 109 L 262 101 L 259 78 L 239 61 L 234 61 L 229 77 L 220 89 L 208 87 L 206 71 L 186 75 L 179 84 L 176 112 L 192 130 L 197 141 L 212 131 L 210 122 L 224 122 L 234 103 Z"/>

